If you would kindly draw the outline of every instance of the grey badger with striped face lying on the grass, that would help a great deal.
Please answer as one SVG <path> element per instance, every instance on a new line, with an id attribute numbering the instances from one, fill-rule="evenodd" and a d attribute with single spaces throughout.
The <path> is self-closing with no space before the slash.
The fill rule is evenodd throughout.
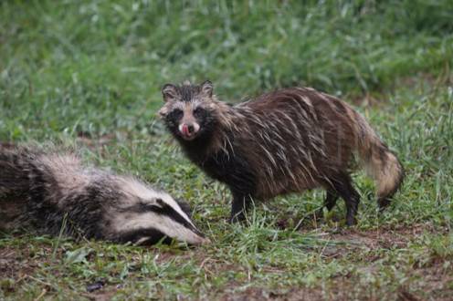
<path id="1" fill-rule="evenodd" d="M 0 230 L 114 243 L 209 242 L 185 202 L 130 176 L 85 167 L 70 151 L 0 146 Z"/>

